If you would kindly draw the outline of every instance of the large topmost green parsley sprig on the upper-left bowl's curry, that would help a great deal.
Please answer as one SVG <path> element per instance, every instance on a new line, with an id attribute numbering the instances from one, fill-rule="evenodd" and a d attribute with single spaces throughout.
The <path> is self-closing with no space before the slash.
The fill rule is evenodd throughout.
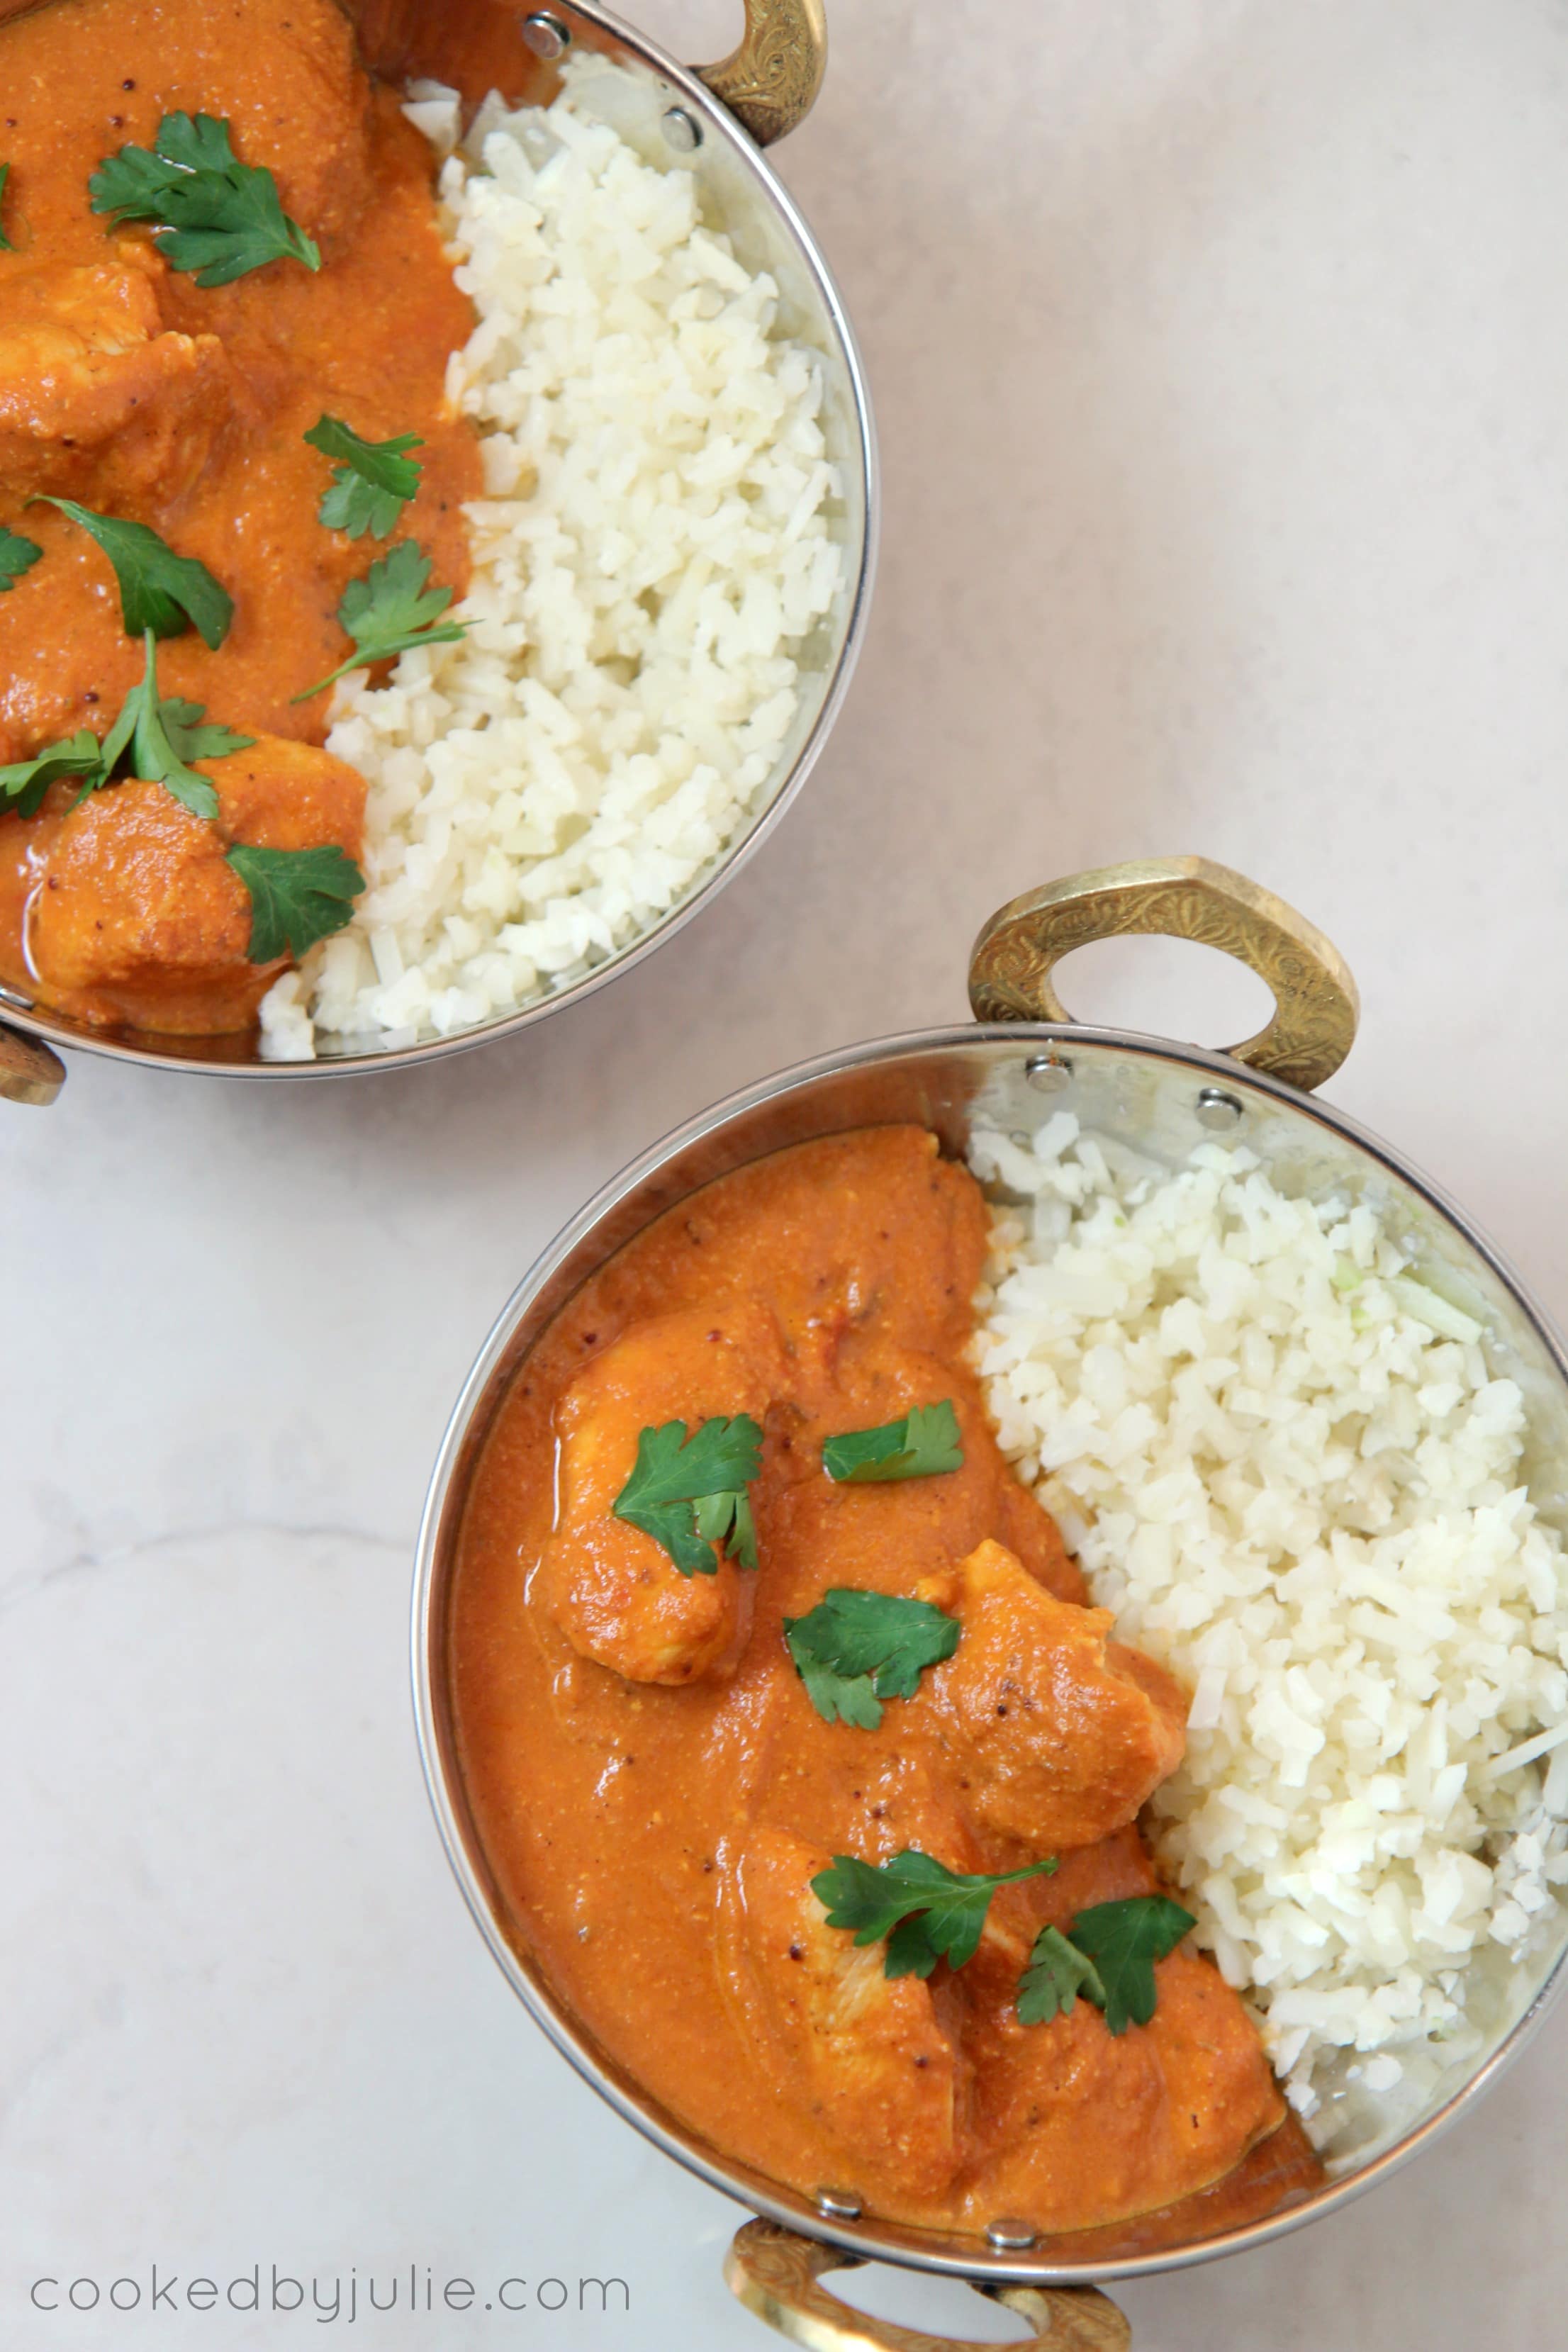
<path id="1" fill-rule="evenodd" d="M 273 174 L 237 160 L 216 115 L 165 115 L 153 148 L 106 155 L 87 193 L 115 223 L 158 221 L 153 245 L 200 287 L 226 287 L 268 261 L 322 266 L 320 247 L 282 209 Z"/>

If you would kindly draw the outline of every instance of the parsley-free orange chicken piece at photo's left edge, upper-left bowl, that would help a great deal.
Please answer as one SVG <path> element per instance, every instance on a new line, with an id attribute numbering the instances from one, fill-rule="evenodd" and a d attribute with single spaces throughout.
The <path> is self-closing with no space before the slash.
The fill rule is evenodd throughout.
<path id="1" fill-rule="evenodd" d="M 214 334 L 165 334 L 165 261 L 127 245 L 92 268 L 5 280 L 0 315 L 0 489 L 113 513 L 179 501 L 235 407 Z"/>

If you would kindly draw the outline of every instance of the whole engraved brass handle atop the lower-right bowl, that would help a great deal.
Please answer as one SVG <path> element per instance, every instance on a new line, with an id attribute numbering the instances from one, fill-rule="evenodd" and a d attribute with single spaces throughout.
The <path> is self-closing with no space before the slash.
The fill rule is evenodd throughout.
<path id="1" fill-rule="evenodd" d="M 1013 898 L 985 924 L 969 957 L 976 1021 L 1070 1023 L 1051 971 L 1074 948 L 1126 931 L 1159 931 L 1225 948 L 1274 993 L 1274 1018 L 1227 1044 L 1232 1061 L 1312 1094 L 1356 1042 L 1361 1000 L 1349 967 L 1316 924 L 1208 858 L 1095 866 Z"/>

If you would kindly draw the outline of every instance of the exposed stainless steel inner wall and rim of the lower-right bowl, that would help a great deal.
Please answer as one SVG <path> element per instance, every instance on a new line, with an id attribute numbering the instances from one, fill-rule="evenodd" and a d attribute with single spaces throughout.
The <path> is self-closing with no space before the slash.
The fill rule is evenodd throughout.
<path id="1" fill-rule="evenodd" d="M 1046 1049 L 1070 1061 L 1067 1087 L 1048 1098 L 1030 1077 L 1030 1061 Z M 557 2002 L 505 1917 L 465 1811 L 449 1698 L 447 1623 L 465 1494 L 496 1406 L 548 1322 L 623 1242 L 698 1185 L 788 1143 L 849 1127 L 914 1120 L 931 1127 L 947 1152 L 961 1155 L 971 1122 L 1025 1134 L 1058 1108 L 1077 1112 L 1084 1127 L 1178 1164 L 1194 1145 L 1215 1141 L 1199 1117 L 1199 1096 L 1213 1089 L 1239 1105 L 1227 1141 L 1255 1150 L 1284 1190 L 1375 1202 L 1415 1242 L 1425 1279 L 1483 1322 L 1495 1371 L 1526 1390 L 1533 1496 L 1568 1531 L 1568 1357 L 1507 1263 L 1460 1209 L 1375 1136 L 1309 1096 L 1215 1054 L 1086 1028 L 943 1030 L 858 1047 L 731 1096 L 654 1145 L 567 1225 L 512 1294 L 456 1404 L 435 1468 L 414 1585 L 416 1722 L 447 1853 L 494 1957 L 557 2049 L 668 2154 L 755 2211 L 867 2260 L 976 2279 L 1074 2284 L 1208 2260 L 1298 2227 L 1410 2157 L 1519 2053 L 1561 1983 L 1568 1912 L 1559 1910 L 1542 1950 L 1497 1973 L 1483 1997 L 1479 2051 L 1453 2063 L 1408 2112 L 1389 2110 L 1387 2100 L 1363 2105 L 1356 2082 L 1347 2077 L 1335 2098 L 1335 2143 L 1324 2187 L 1307 2197 L 1291 2192 L 1291 2201 L 1281 2204 L 1262 2178 L 1255 2218 L 1246 2223 L 1215 2223 L 1213 2201 L 1206 2206 L 1197 2197 L 1128 2225 L 1004 2253 L 971 2237 L 823 2216 L 811 2199 L 731 2161 L 644 2098 Z"/>

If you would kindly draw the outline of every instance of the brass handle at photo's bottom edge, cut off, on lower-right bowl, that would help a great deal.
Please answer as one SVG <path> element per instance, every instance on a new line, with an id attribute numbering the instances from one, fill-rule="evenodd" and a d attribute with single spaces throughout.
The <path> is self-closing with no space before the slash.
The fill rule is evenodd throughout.
<path id="1" fill-rule="evenodd" d="M 870 2319 L 816 2284 L 830 2270 L 858 2267 L 858 2256 L 844 2253 L 842 2246 L 820 2246 L 813 2237 L 797 2237 L 795 2230 L 780 2230 L 771 2220 L 748 2220 L 724 2256 L 724 2279 L 748 2312 L 766 2319 L 790 2343 L 806 2345 L 809 2352 L 992 2352 L 987 2345 Z M 1128 2352 L 1133 2340 L 1117 2305 L 1093 2286 L 992 2286 L 985 2279 L 966 2284 L 1027 2319 L 1037 2343 L 1048 2352 Z"/>

